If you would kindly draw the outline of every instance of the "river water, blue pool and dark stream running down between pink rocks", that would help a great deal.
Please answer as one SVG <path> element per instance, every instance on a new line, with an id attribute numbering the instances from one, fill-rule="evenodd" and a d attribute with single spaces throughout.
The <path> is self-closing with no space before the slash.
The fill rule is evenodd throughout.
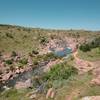
<path id="1" fill-rule="evenodd" d="M 65 48 L 62 51 L 53 50 L 52 52 L 54 52 L 54 54 L 57 55 L 57 56 L 65 57 L 65 56 L 69 56 L 72 53 L 72 49 L 71 48 Z M 31 79 L 32 76 L 35 76 L 35 75 L 41 76 L 43 74 L 43 69 L 44 69 L 44 67 L 47 63 L 48 62 L 44 62 L 44 63 L 38 65 L 35 69 L 21 73 L 21 74 L 18 74 L 13 79 L 6 81 L 5 84 L 0 84 L 0 91 L 3 90 L 3 86 L 14 87 L 14 85 L 18 81 L 26 81 L 27 79 Z M 33 82 L 33 84 L 34 84 L 34 82 Z"/>

